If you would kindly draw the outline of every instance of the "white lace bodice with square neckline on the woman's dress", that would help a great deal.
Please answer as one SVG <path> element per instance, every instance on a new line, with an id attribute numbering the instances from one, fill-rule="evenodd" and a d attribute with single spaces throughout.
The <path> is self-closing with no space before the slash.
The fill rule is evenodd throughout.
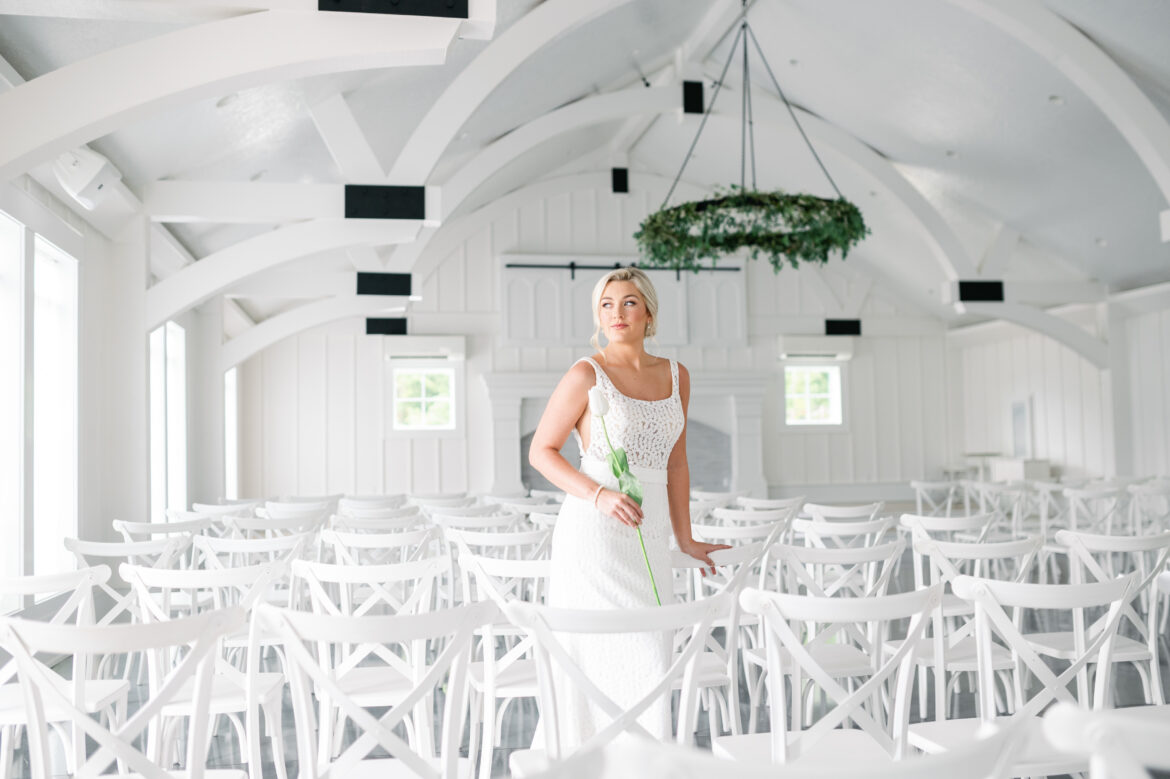
<path id="1" fill-rule="evenodd" d="M 631 466 L 656 468 L 665 470 L 670 451 L 674 449 L 686 419 L 682 413 L 682 398 L 679 394 L 679 364 L 670 360 L 670 397 L 662 400 L 639 400 L 621 394 L 601 366 L 591 358 L 583 358 L 593 366 L 597 373 L 597 386 L 610 401 L 610 413 L 605 415 L 605 426 L 614 448 L 625 447 Z M 580 435 L 573 429 L 577 444 L 581 444 Z M 590 456 L 605 462 L 608 447 L 601 420 L 596 414 L 590 415 L 589 450 L 583 456 Z"/>

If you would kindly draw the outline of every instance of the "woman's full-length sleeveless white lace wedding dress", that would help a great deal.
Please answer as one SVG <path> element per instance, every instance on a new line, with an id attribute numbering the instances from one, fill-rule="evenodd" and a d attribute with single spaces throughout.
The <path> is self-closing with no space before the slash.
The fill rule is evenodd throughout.
<path id="1" fill-rule="evenodd" d="M 597 386 L 610 402 L 605 415 L 610 441 L 624 447 L 631 471 L 642 483 L 642 539 L 654 570 L 662 604 L 674 600 L 669 539 L 670 510 L 667 502 L 666 467 L 684 415 L 679 395 L 679 365 L 670 360 L 670 397 L 662 400 L 628 398 L 592 359 Z M 574 435 L 577 430 L 573 430 Z M 578 435 L 578 444 L 580 444 Z M 606 462 L 608 448 L 601 420 L 591 416 L 589 449 L 581 447 L 580 470 L 611 489 L 618 488 Z M 603 515 L 589 501 L 567 497 L 552 535 L 552 578 L 549 605 L 560 608 L 642 608 L 656 606 L 638 532 Z M 565 636 L 560 636 L 565 637 Z M 669 636 L 661 633 L 622 635 L 574 635 L 570 654 L 581 670 L 606 695 L 624 708 L 648 692 L 666 673 L 670 659 Z M 556 674 L 560 754 L 567 754 L 605 726 L 603 715 L 569 680 Z M 660 738 L 669 738 L 669 702 L 653 705 L 641 724 Z"/>

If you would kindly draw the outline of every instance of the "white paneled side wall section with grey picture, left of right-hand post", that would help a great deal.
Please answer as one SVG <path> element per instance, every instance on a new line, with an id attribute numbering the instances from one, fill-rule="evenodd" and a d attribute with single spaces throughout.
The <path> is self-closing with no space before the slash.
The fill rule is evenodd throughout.
<path id="1" fill-rule="evenodd" d="M 958 448 L 1012 454 L 1012 404 L 1031 400 L 1033 457 L 1058 475 L 1114 470 L 1109 374 L 1071 349 L 1011 325 L 951 337 Z"/>

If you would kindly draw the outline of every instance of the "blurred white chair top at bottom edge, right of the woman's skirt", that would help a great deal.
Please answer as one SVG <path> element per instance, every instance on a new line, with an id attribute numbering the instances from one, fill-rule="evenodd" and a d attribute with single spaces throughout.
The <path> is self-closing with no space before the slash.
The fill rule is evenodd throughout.
<path id="1" fill-rule="evenodd" d="M 728 760 L 706 750 L 677 744 L 626 740 L 559 764 L 556 779 L 1000 779 L 1011 758 L 1014 739 L 1005 730 L 987 732 L 943 754 L 911 756 L 894 763 L 849 766 L 848 772 L 827 772 L 800 763 L 777 766 L 771 760 Z M 730 768 L 730 772 L 729 772 Z M 542 774 L 541 779 L 553 779 Z"/>

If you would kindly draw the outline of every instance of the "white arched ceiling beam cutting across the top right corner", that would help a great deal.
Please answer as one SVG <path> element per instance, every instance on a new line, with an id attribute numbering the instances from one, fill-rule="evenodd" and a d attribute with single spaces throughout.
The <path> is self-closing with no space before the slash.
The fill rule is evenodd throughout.
<path id="1" fill-rule="evenodd" d="M 1073 25 L 1037 0 L 950 0 L 1048 60 L 1121 132 L 1170 204 L 1170 122 L 1129 74 Z M 1170 211 L 1161 215 L 1170 241 Z"/>

